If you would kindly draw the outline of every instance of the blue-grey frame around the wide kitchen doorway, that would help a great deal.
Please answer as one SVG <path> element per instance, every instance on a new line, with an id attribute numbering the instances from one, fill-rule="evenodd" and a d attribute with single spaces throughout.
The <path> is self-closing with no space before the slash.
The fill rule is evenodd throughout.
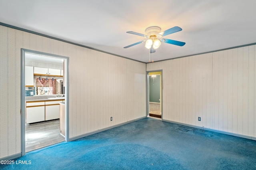
<path id="1" fill-rule="evenodd" d="M 64 75 L 65 75 L 65 140 L 68 142 L 69 139 L 69 76 L 68 76 L 68 63 L 69 57 L 62 55 L 55 55 L 51 53 L 44 53 L 40 51 L 34 51 L 30 49 L 21 49 L 21 110 L 20 110 L 20 121 L 21 121 L 21 155 L 24 156 L 26 154 L 26 142 L 25 142 L 25 55 L 26 53 L 34 53 L 38 55 L 47 55 L 51 57 L 56 57 L 59 59 L 65 60 L 64 65 Z"/>

